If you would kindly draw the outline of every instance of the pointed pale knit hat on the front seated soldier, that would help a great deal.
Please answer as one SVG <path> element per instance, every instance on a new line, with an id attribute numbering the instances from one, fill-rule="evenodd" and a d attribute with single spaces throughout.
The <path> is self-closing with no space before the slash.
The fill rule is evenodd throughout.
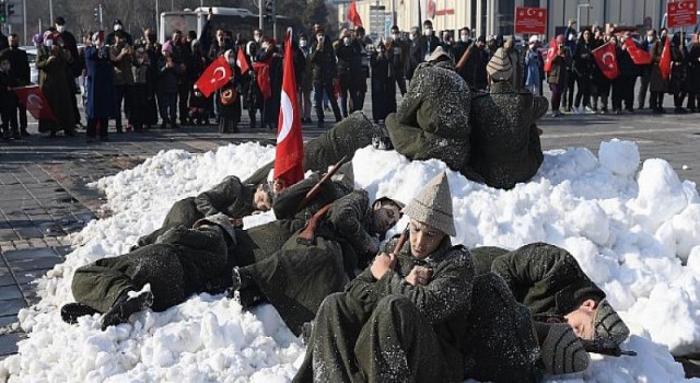
<path id="1" fill-rule="evenodd" d="M 447 183 L 447 174 L 445 172 L 431 179 L 401 212 L 447 235 L 457 235 L 452 216 L 450 183 Z"/>

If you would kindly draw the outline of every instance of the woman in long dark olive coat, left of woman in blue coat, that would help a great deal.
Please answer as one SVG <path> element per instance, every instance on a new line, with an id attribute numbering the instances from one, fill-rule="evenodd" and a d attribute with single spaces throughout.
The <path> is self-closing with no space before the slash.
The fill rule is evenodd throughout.
<path id="1" fill-rule="evenodd" d="M 75 136 L 75 116 L 73 115 L 71 94 L 68 79 L 68 61 L 63 50 L 58 44 L 54 44 L 58 34 L 51 31 L 44 33 L 44 44 L 36 50 L 36 69 L 39 71 L 39 86 L 48 105 L 54 113 L 55 119 L 39 119 L 39 131 L 50 132 L 50 137 L 56 137 L 58 130 L 63 130 L 63 135 Z M 72 78 L 70 79 L 72 81 Z"/>

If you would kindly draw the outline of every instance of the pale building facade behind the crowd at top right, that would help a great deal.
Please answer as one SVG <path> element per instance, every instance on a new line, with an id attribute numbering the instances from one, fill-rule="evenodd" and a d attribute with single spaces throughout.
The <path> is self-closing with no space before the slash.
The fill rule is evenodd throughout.
<path id="1" fill-rule="evenodd" d="M 513 35 L 515 7 L 548 10 L 547 38 L 561 33 L 569 19 L 582 26 L 606 23 L 635 26 L 640 31 L 660 28 L 667 0 L 358 0 L 358 11 L 368 34 L 383 38 L 396 22 L 404 32 L 431 20 L 435 31 L 468 26 L 475 36 Z M 336 0 L 338 20 L 347 22 L 348 3 Z M 351 26 L 351 25 L 350 25 Z"/>

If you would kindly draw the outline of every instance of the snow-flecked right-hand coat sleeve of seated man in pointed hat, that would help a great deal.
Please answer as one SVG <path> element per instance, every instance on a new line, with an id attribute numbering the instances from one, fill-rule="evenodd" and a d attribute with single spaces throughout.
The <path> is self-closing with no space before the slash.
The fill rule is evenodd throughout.
<path id="1" fill-rule="evenodd" d="M 428 286 L 412 286 L 398 271 L 386 272 L 376 281 L 377 298 L 401 294 L 431 323 L 442 323 L 471 304 L 474 264 L 464 248 L 453 249 L 434 270 Z"/>

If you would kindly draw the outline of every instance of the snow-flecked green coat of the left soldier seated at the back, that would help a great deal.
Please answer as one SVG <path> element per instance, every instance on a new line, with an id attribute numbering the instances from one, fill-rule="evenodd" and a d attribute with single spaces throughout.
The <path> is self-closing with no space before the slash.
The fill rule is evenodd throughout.
<path id="1" fill-rule="evenodd" d="M 463 171 L 470 154 L 470 108 L 471 93 L 452 61 L 422 63 L 386 128 L 396 151 L 409 160 L 438 159 Z"/>

